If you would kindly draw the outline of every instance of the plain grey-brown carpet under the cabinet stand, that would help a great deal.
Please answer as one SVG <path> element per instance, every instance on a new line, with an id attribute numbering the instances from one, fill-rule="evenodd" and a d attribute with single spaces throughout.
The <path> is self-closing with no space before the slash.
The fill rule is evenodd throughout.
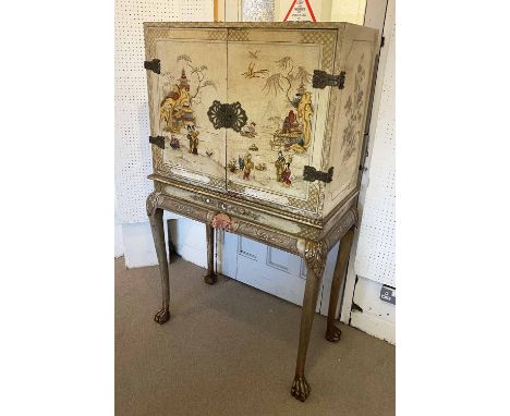
<path id="1" fill-rule="evenodd" d="M 305 403 L 290 395 L 301 308 L 235 280 L 214 286 L 204 269 L 170 269 L 171 318 L 157 267 L 116 259 L 116 415 L 394 415 L 394 347 L 348 326 L 324 339 L 316 315 Z"/>

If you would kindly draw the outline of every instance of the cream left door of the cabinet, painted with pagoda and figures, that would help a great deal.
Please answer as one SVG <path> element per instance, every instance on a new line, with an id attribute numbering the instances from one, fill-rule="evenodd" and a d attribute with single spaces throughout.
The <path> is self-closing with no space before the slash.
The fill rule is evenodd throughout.
<path id="1" fill-rule="evenodd" d="M 207 112 L 227 98 L 227 30 L 146 24 L 145 54 L 159 60 L 147 70 L 155 173 L 224 191 L 226 131 Z"/>

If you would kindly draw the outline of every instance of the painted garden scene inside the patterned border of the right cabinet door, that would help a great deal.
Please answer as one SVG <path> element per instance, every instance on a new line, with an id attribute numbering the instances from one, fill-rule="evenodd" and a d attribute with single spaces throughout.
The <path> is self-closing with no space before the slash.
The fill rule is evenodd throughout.
<path id="1" fill-rule="evenodd" d="M 309 164 L 315 129 L 314 64 L 306 58 L 314 57 L 289 53 L 289 46 L 236 52 L 232 54 L 243 57 L 245 70 L 229 73 L 229 96 L 240 97 L 248 121 L 240 133 L 228 133 L 236 136 L 227 146 L 229 179 L 305 197 L 303 168 Z"/>

